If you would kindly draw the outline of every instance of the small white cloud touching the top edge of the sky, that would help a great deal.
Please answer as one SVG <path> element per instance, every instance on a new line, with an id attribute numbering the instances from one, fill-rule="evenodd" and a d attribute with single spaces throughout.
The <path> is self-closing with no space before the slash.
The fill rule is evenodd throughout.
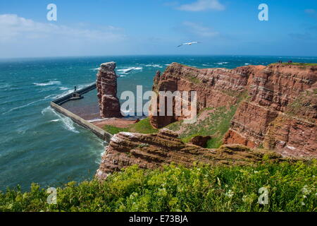
<path id="1" fill-rule="evenodd" d="M 181 11 L 206 11 L 206 10 L 217 10 L 222 11 L 225 9 L 225 6 L 223 4 L 220 4 L 218 0 L 197 0 L 193 2 L 192 4 L 184 4 L 177 8 Z"/>

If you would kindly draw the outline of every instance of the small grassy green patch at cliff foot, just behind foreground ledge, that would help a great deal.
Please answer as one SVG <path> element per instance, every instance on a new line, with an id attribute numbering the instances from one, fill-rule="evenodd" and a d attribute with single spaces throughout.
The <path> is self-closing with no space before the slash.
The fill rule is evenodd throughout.
<path id="1" fill-rule="evenodd" d="M 132 124 L 128 127 L 125 128 L 119 128 L 116 126 L 109 126 L 106 125 L 104 126 L 104 130 L 107 131 L 108 133 L 111 134 L 116 134 L 119 132 L 132 132 L 132 133 L 157 133 L 159 130 L 158 129 L 154 129 L 150 122 L 149 122 L 149 118 L 147 119 L 142 119 L 141 121 L 137 122 L 136 124 Z"/>

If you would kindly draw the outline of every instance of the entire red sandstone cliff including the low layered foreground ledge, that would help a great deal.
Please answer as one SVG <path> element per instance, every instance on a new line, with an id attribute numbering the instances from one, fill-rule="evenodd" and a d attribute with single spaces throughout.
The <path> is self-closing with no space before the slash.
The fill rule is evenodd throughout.
<path id="1" fill-rule="evenodd" d="M 282 155 L 317 157 L 316 76 L 317 67 L 306 65 L 272 64 L 230 70 L 195 69 L 173 63 L 162 75 L 156 73 L 153 90 L 197 91 L 202 121 L 216 109 L 234 109 L 230 129 L 223 137 L 225 145 L 209 149 L 198 146 L 204 146 L 212 134 L 192 138 L 194 145 L 184 143 L 179 133 L 168 129 L 157 134 L 121 132 L 111 138 L 96 177 L 105 179 L 109 173 L 134 164 L 156 169 L 171 162 L 187 167 L 194 162 L 252 165 L 261 162 L 263 155 L 273 161 L 282 161 Z M 154 127 L 161 128 L 185 117 L 149 118 Z M 213 117 L 208 119 L 207 124 L 216 124 Z M 184 132 L 182 129 L 180 132 Z M 265 149 L 257 148 L 262 145 Z"/>

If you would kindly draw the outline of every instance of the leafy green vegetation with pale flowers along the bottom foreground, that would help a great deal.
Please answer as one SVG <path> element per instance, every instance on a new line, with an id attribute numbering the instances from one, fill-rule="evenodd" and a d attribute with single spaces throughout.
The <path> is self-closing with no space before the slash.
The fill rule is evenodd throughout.
<path id="1" fill-rule="evenodd" d="M 25 193 L 7 189 L 0 192 L 0 211 L 316 211 L 316 163 L 163 170 L 135 165 L 104 182 L 59 187 L 51 205 L 37 184 Z M 261 187 L 268 189 L 268 205 L 258 203 Z"/>

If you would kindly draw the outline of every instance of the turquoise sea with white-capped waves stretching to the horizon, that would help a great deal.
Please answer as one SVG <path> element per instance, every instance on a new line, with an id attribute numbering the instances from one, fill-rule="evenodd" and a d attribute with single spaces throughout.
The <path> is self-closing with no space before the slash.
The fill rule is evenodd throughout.
<path id="1" fill-rule="evenodd" d="M 92 179 L 104 143 L 70 119 L 54 112 L 49 102 L 94 83 L 101 63 L 116 61 L 118 96 L 125 90 L 151 90 L 157 70 L 172 62 L 199 68 L 235 68 L 275 61 L 316 63 L 313 57 L 81 57 L 0 60 L 0 190 L 32 182 L 58 186 Z M 127 69 L 135 68 L 129 73 Z M 96 102 L 94 93 L 85 97 Z M 87 99 L 88 98 L 88 99 Z"/>

